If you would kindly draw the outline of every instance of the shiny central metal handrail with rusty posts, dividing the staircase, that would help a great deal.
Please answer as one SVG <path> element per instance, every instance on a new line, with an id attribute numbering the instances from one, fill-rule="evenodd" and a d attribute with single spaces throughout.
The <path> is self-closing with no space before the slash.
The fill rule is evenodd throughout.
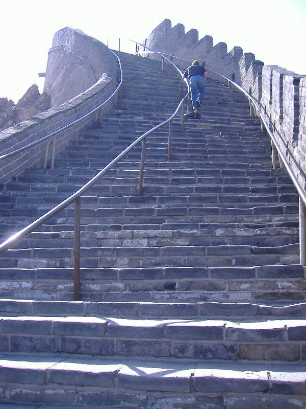
<path id="1" fill-rule="evenodd" d="M 168 60 L 166 57 L 164 57 L 166 60 Z M 119 60 L 119 57 L 118 57 Z M 170 64 L 172 64 L 175 69 L 180 73 L 182 76 L 182 73 L 175 64 L 173 64 L 170 60 L 168 60 Z M 122 83 L 122 69 L 121 69 L 121 63 L 120 63 L 120 70 L 121 70 L 121 82 Z M 81 196 L 87 192 L 87 190 L 92 187 L 99 179 L 102 177 L 104 174 L 106 174 L 114 165 L 116 165 L 127 153 L 129 153 L 136 145 L 138 145 L 141 141 L 143 143 L 142 145 L 142 154 L 141 154 L 141 165 L 140 165 L 140 175 L 139 175 L 139 186 L 138 186 L 138 192 L 139 194 L 142 193 L 142 179 L 143 179 L 143 169 L 144 169 L 144 161 L 145 161 L 145 141 L 146 137 L 150 135 L 152 132 L 155 130 L 159 129 L 163 125 L 169 123 L 169 135 L 171 135 L 171 124 L 173 118 L 177 115 L 177 112 L 179 112 L 180 108 L 182 107 L 182 127 L 184 126 L 184 111 L 183 111 L 183 104 L 186 98 L 189 96 L 189 84 L 186 81 L 187 87 L 188 87 L 188 92 L 185 95 L 185 97 L 182 98 L 180 101 L 179 105 L 175 109 L 174 113 L 165 121 L 161 122 L 160 124 L 156 125 L 155 127 L 149 129 L 145 133 L 143 133 L 137 140 L 135 140 L 131 145 L 129 145 L 126 149 L 124 149 L 118 156 L 116 156 L 105 168 L 100 170 L 93 178 L 91 178 L 82 188 L 80 188 L 78 191 L 70 195 L 68 198 L 63 200 L 59 205 L 54 207 L 52 210 L 48 211 L 35 221 L 33 221 L 31 224 L 26 226 L 24 229 L 20 230 L 19 232 L 13 234 L 10 236 L 6 241 L 4 241 L 2 244 L 0 244 L 0 254 L 4 253 L 7 249 L 10 247 L 14 246 L 17 244 L 20 240 L 22 240 L 25 236 L 28 234 L 32 233 L 34 230 L 36 230 L 39 226 L 41 226 L 44 222 L 52 218 L 53 216 L 57 215 L 61 210 L 65 209 L 68 205 L 70 205 L 72 202 L 75 202 L 74 205 L 74 267 L 73 267 L 73 280 L 74 280 L 74 300 L 79 300 L 80 299 L 80 235 L 81 235 Z M 118 90 L 118 87 L 117 87 Z M 115 93 L 112 94 L 110 98 L 108 98 L 107 101 L 109 101 Z M 170 139 L 170 138 L 169 138 Z M 168 151 L 169 155 L 169 151 Z"/>

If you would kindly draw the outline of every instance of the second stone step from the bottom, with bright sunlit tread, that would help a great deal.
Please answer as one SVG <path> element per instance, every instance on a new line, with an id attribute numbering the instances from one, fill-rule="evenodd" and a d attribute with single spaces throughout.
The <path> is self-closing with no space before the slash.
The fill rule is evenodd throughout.
<path id="1" fill-rule="evenodd" d="M 306 354 L 304 320 L 236 323 L 88 316 L 0 316 L 0 320 L 4 354 L 123 355 L 189 363 L 207 359 L 302 363 Z"/>

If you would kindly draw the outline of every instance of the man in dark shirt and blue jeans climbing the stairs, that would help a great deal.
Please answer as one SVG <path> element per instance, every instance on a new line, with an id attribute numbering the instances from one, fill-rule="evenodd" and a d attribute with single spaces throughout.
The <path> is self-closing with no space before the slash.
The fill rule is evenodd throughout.
<path id="1" fill-rule="evenodd" d="M 192 109 L 197 113 L 197 107 L 202 105 L 207 71 L 198 60 L 193 60 L 183 75 L 183 78 L 186 77 L 189 77 L 190 82 Z"/>

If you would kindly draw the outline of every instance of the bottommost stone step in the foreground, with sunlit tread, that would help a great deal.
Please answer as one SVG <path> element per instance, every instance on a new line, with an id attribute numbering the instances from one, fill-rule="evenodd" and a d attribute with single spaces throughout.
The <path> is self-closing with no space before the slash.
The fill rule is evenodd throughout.
<path id="1" fill-rule="evenodd" d="M 188 407 L 186 403 L 195 409 L 203 403 L 228 409 L 245 403 L 258 407 L 261 401 L 264 408 L 300 409 L 305 403 L 305 374 L 295 363 L 207 361 L 188 365 L 124 357 L 6 354 L 0 374 L 6 380 L 4 402 L 121 407 L 127 402 L 131 408 L 148 408 L 155 402 L 160 405 L 156 407 L 167 409 Z M 237 395 L 241 390 L 243 394 Z"/>

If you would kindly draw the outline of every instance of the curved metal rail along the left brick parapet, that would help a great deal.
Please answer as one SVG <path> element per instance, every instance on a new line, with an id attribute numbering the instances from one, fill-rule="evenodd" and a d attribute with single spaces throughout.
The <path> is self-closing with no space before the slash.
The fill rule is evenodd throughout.
<path id="1" fill-rule="evenodd" d="M 44 141 L 46 141 L 46 140 L 48 140 L 48 139 L 54 137 L 56 134 L 58 134 L 58 133 L 60 133 L 60 132 L 62 132 L 62 131 L 64 131 L 64 130 L 70 128 L 71 126 L 73 126 L 73 125 L 75 125 L 75 124 L 78 124 L 78 123 L 81 122 L 83 119 L 87 118 L 89 115 L 92 115 L 92 113 L 96 112 L 98 109 L 100 109 L 100 108 L 102 108 L 104 105 L 106 105 L 106 104 L 119 92 L 119 89 L 120 89 L 120 87 L 121 87 L 121 85 L 122 85 L 122 67 L 121 67 L 121 61 L 120 61 L 120 58 L 117 56 L 117 54 L 115 54 L 112 50 L 109 50 L 109 51 L 110 51 L 111 53 L 113 53 L 114 56 L 117 58 L 117 60 L 118 60 L 118 65 L 119 65 L 119 70 L 120 70 L 120 82 L 119 82 L 119 84 L 117 85 L 117 87 L 116 87 L 116 89 L 114 90 L 114 92 L 112 93 L 112 95 L 111 95 L 110 97 L 108 97 L 104 102 L 102 102 L 101 104 L 99 104 L 99 105 L 96 106 L 95 108 L 91 109 L 89 112 L 85 113 L 82 117 L 80 117 L 80 118 L 78 118 L 78 119 L 76 119 L 76 120 L 74 120 L 74 121 L 72 121 L 72 122 L 69 122 L 69 124 L 67 124 L 67 125 L 65 125 L 65 126 L 62 126 L 61 128 L 57 129 L 56 131 L 53 131 L 53 132 L 51 132 L 51 133 L 48 133 L 45 137 L 40 138 L 40 139 L 38 139 L 37 141 L 31 142 L 30 144 L 25 145 L 25 146 L 23 146 L 22 148 L 18 148 L 18 149 L 15 149 L 15 150 L 12 151 L 12 152 L 5 153 L 5 154 L 3 154 L 3 155 L 0 155 L 0 161 L 4 160 L 4 159 L 6 159 L 6 158 L 8 158 L 8 157 L 10 157 L 10 156 L 13 156 L 13 155 L 15 155 L 15 154 L 17 154 L 17 153 L 20 153 L 20 152 L 23 152 L 23 151 L 25 151 L 25 150 L 28 150 L 28 149 L 32 148 L 33 146 L 39 145 L 40 143 L 42 143 L 42 142 L 44 142 Z M 107 86 L 112 83 L 112 81 L 114 80 L 115 77 L 116 77 L 116 75 L 115 75 L 115 76 L 112 78 L 112 80 L 107 84 Z"/>

